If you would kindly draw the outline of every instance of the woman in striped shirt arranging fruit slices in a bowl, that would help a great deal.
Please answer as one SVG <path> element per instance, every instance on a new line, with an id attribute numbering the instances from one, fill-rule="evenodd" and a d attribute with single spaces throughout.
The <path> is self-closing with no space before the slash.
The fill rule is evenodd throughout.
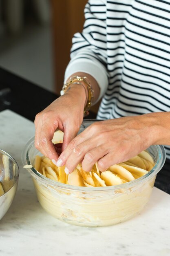
<path id="1" fill-rule="evenodd" d="M 84 13 L 67 90 L 35 117 L 36 148 L 67 174 L 81 161 L 85 171 L 95 162 L 105 171 L 153 144 L 167 145 L 170 158 L 170 1 L 89 0 Z M 102 98 L 97 119 L 104 121 L 77 135 L 91 103 L 89 83 L 93 104 Z M 51 142 L 57 128 L 62 148 Z"/>

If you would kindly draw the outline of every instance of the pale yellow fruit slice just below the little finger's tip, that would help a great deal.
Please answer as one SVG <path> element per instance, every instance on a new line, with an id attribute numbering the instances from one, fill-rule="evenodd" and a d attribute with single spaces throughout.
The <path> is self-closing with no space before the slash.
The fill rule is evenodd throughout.
<path id="1" fill-rule="evenodd" d="M 100 177 L 105 181 L 107 186 L 123 184 L 121 178 L 113 174 L 111 171 L 102 172 Z"/>

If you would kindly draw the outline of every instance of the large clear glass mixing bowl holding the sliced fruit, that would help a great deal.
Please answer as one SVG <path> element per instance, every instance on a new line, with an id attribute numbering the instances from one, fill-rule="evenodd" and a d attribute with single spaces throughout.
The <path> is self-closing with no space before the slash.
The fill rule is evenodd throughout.
<path id="1" fill-rule="evenodd" d="M 79 132 L 96 120 L 85 120 Z M 166 153 L 163 146 L 148 148 L 155 166 L 137 180 L 107 187 L 77 187 L 55 182 L 28 168 L 38 200 L 44 210 L 55 218 L 72 225 L 102 227 L 123 222 L 135 216 L 148 202 L 157 173 L 161 170 Z M 34 146 L 34 137 L 22 153 L 22 162 L 34 164 L 41 153 Z"/>

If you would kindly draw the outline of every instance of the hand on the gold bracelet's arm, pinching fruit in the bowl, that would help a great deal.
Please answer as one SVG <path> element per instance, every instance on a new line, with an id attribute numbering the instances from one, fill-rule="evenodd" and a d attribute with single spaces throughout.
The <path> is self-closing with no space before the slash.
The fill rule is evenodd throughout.
<path id="1" fill-rule="evenodd" d="M 83 121 L 86 94 L 82 85 L 71 85 L 35 117 L 35 147 L 56 164 L 58 155 L 52 143 L 57 128 L 64 132 L 62 151 L 75 138 Z"/>

